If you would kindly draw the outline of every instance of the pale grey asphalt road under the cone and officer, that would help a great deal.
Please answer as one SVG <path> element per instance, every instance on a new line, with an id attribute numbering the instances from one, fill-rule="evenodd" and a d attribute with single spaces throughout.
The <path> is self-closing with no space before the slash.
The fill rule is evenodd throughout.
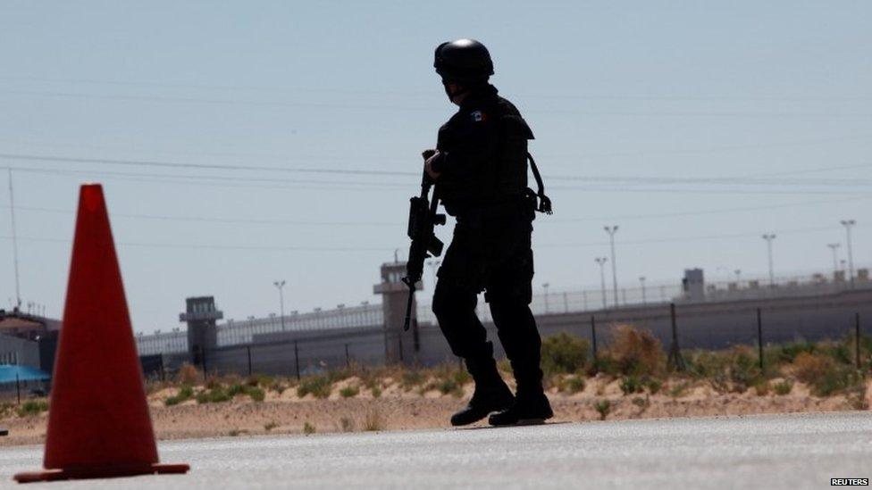
<path id="1" fill-rule="evenodd" d="M 872 477 L 872 413 L 233 437 L 160 444 L 186 476 L 38 488 L 825 488 Z M 0 449 L 0 486 L 39 446 Z"/>

